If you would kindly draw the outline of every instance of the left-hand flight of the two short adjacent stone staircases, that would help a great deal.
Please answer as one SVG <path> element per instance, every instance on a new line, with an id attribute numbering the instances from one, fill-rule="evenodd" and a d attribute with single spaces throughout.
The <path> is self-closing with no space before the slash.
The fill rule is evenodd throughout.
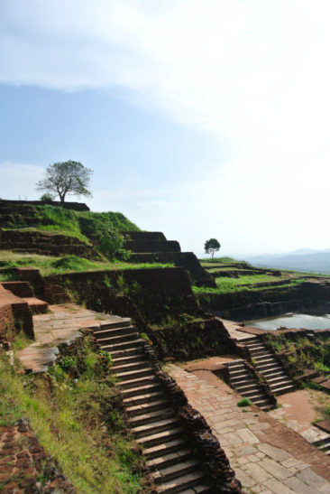
<path id="1" fill-rule="evenodd" d="M 238 359 L 227 363 L 230 383 L 240 395 L 249 398 L 254 405 L 262 410 L 270 410 L 273 404 L 269 396 L 263 391 L 259 380 L 252 375 L 251 370 L 244 360 Z"/>

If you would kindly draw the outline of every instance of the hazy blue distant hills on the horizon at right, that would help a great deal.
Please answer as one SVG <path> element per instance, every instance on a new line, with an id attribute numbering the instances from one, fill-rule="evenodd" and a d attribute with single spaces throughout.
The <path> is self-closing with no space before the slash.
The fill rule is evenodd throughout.
<path id="1" fill-rule="evenodd" d="M 246 257 L 253 266 L 330 274 L 330 249 L 301 248 L 289 254 Z"/>

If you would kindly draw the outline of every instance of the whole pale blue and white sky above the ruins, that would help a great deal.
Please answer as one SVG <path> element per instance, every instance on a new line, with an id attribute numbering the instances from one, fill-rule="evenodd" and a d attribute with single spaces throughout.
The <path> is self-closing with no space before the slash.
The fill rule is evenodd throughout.
<path id="1" fill-rule="evenodd" d="M 75 160 L 91 210 L 184 251 L 329 248 L 329 22 L 328 0 L 0 0 L 0 197 Z"/>

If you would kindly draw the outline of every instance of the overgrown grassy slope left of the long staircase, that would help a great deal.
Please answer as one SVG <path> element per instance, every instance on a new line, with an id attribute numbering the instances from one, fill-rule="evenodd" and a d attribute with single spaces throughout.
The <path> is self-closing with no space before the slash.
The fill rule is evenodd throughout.
<path id="1" fill-rule="evenodd" d="M 26 417 L 78 492 L 147 492 L 107 359 L 80 342 L 46 376 L 19 376 L 0 356 L 0 424 Z"/>

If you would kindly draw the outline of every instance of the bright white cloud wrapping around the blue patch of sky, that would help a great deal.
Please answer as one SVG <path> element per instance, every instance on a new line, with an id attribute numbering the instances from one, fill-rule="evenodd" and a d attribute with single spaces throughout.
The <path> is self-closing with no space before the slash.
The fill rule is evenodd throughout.
<path id="1" fill-rule="evenodd" d="M 0 6 L 0 80 L 125 89 L 231 140 L 233 159 L 207 163 L 203 180 L 154 197 L 125 184 L 144 228 L 168 226 L 186 248 L 215 225 L 235 251 L 329 247 L 329 14 L 327 0 L 12 0 Z"/>

